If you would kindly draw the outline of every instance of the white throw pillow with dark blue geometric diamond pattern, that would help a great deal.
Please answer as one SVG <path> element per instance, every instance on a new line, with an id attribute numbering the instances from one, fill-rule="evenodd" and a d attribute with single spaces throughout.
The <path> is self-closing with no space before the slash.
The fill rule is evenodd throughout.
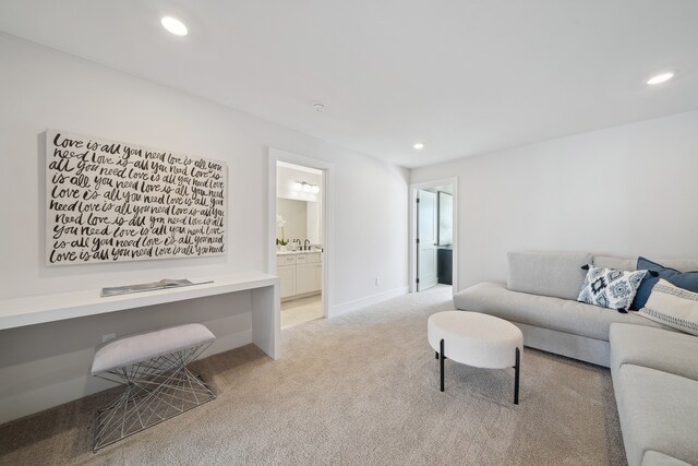
<path id="1" fill-rule="evenodd" d="M 616 271 L 588 265 L 577 301 L 602 308 L 627 310 L 647 271 Z"/>

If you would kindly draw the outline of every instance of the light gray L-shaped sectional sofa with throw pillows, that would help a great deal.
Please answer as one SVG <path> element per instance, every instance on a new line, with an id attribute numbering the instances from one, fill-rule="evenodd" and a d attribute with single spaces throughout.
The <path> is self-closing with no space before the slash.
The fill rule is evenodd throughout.
<path id="1" fill-rule="evenodd" d="M 658 262 L 698 270 L 698 260 Z M 509 253 L 506 285 L 471 286 L 454 306 L 510 321 L 526 346 L 611 368 L 630 465 L 698 465 L 698 337 L 578 302 L 585 264 L 636 268 L 635 259 L 590 253 Z"/>

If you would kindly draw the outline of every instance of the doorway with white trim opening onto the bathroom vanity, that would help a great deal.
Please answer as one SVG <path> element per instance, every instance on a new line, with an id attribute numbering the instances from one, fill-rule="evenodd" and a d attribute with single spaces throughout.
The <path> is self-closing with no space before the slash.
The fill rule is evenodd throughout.
<path id="1" fill-rule="evenodd" d="M 328 316 L 329 165 L 269 150 L 269 273 L 279 277 L 279 326 Z"/>

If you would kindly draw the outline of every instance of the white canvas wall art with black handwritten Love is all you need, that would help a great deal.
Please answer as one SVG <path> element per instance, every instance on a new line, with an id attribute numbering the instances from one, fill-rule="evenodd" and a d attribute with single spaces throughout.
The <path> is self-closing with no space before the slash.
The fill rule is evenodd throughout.
<path id="1" fill-rule="evenodd" d="M 49 265 L 222 254 L 224 162 L 46 132 Z"/>

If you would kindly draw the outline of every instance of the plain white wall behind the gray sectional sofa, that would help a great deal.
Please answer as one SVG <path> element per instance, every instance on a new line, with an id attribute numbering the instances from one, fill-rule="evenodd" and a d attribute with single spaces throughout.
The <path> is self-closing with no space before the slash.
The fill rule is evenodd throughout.
<path id="1" fill-rule="evenodd" d="M 698 111 L 418 168 L 410 181 L 453 176 L 459 289 L 506 282 L 514 250 L 698 258 Z"/>

